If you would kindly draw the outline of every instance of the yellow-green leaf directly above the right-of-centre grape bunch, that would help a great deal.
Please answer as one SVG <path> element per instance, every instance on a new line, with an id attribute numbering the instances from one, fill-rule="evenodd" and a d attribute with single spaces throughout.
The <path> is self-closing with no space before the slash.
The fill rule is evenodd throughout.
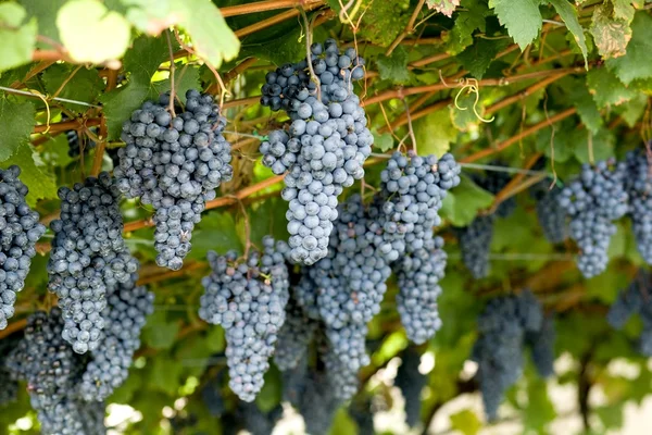
<path id="1" fill-rule="evenodd" d="M 457 129 L 447 109 L 430 113 L 414 122 L 414 136 L 419 156 L 441 157 L 457 138 Z"/>

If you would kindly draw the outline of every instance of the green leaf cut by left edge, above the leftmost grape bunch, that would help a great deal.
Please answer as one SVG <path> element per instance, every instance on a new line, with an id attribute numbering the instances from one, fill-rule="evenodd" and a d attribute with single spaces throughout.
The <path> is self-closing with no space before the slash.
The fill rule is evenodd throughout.
<path id="1" fill-rule="evenodd" d="M 30 102 L 0 99 L 0 162 L 9 159 L 22 144 L 29 141 L 34 129 L 35 111 Z"/>

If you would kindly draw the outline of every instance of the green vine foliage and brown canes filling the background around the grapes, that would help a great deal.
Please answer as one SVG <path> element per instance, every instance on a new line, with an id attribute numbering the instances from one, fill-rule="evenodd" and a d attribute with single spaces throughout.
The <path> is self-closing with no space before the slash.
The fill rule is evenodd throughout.
<path id="1" fill-rule="evenodd" d="M 122 428 L 129 434 L 221 432 L 221 420 L 210 415 L 198 394 L 199 386 L 224 370 L 218 357 L 225 346 L 222 330 L 209 327 L 197 315 L 200 279 L 208 269 L 204 258 L 209 249 L 241 249 L 246 219 L 252 223 L 254 243 L 265 234 L 287 237 L 280 179 L 256 156 L 259 138 L 286 117 L 258 104 L 258 96 L 266 72 L 305 55 L 306 34 L 315 41 L 335 37 L 355 46 L 367 60 L 366 79 L 356 91 L 378 153 L 403 144 L 419 153 L 450 150 L 465 163 L 499 158 L 502 164 L 521 169 L 543 156 L 544 170 L 564 183 L 581 163 L 622 158 L 651 138 L 648 1 L 268 0 L 252 8 L 249 3 L 0 2 L 0 166 L 21 165 L 22 179 L 30 189 L 28 201 L 43 222 L 57 215 L 57 186 L 112 169 L 106 150 L 121 146 L 122 122 L 143 100 L 171 88 L 171 51 L 175 91 L 202 88 L 215 94 L 229 120 L 235 177 L 204 212 L 181 271 L 154 265 L 151 210 L 135 201 L 123 203 L 125 237 L 145 263 L 141 282 L 156 295 L 156 310 L 143 332 L 130 377 L 111 400 L 142 413 L 141 421 Z M 309 26 L 298 8 L 308 12 Z M 224 87 L 214 73 L 220 73 Z M 70 129 L 98 146 L 80 159 L 70 158 L 62 134 Z M 381 162 L 369 159 L 366 185 L 377 185 Z M 614 332 L 604 319 L 618 289 L 643 265 L 628 222 L 619 223 L 612 240 L 607 271 L 584 279 L 573 262 L 575 247 L 552 246 L 541 235 L 534 201 L 522 192 L 536 178 L 515 175 L 493 196 L 471 181 L 473 172 L 464 170 L 466 176 L 442 210 L 439 232 L 447 239 L 450 260 L 440 299 L 443 328 L 419 348 L 436 358 L 427 374 L 423 422 L 427 425 L 449 400 L 477 389 L 460 373 L 485 301 L 529 287 L 548 311 L 557 313 L 557 352 L 573 361 L 556 374 L 557 382 L 578 388 L 577 409 L 585 415 L 586 432 L 619 427 L 624 405 L 640 403 L 652 381 L 647 360 L 636 350 L 640 322 L 632 320 L 624 332 Z M 496 226 L 491 275 L 473 281 L 459 260 L 452 228 L 514 195 L 517 212 Z M 234 198 L 246 204 L 246 215 Z M 49 240 L 41 241 L 45 253 Z M 46 289 L 46 256 L 35 259 L 18 295 L 17 315 L 0 337 L 22 328 L 35 309 L 55 303 Z M 369 397 L 388 400 L 387 384 L 367 381 L 409 346 L 393 308 L 396 290 L 392 284 L 383 312 L 369 325 L 373 363 L 361 373 L 364 387 L 354 402 Z M 619 359 L 637 368 L 636 380 L 607 370 Z M 528 431 L 546 433 L 555 411 L 544 385 L 528 369 L 509 395 L 505 415 Z M 603 405 L 588 405 L 592 389 L 604 394 Z M 233 394 L 227 389 L 223 394 L 227 409 L 234 407 Z M 279 400 L 280 376 L 273 369 L 256 403 L 269 410 Z M 26 394 L 0 409 L 0 427 L 24 415 L 34 420 Z M 171 428 L 171 421 L 181 424 L 188 419 L 197 422 L 195 427 Z M 474 434 L 482 421 L 482 415 L 463 410 L 451 418 L 451 427 Z M 346 410 L 337 414 L 334 427 L 338 434 L 358 431 Z M 35 431 L 35 426 L 11 428 Z"/>

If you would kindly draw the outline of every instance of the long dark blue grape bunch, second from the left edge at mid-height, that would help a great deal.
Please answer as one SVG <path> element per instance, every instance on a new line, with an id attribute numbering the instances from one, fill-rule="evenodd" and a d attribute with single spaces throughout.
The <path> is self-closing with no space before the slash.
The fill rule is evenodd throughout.
<path id="1" fill-rule="evenodd" d="M 59 297 L 65 328 L 63 338 L 78 353 L 95 350 L 102 340 L 106 294 L 129 281 L 138 270 L 123 238 L 120 191 L 103 172 L 61 187 L 61 216 L 48 262 L 49 289 Z"/>

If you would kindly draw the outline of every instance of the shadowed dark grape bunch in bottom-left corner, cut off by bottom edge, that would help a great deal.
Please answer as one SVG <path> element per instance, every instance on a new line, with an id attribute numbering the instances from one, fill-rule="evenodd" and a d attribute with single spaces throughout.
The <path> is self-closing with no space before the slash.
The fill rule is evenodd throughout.
<path id="1" fill-rule="evenodd" d="M 77 395 L 84 359 L 63 340 L 64 327 L 59 308 L 30 315 L 8 366 L 26 381 L 42 434 L 104 434 L 104 405 L 87 403 Z"/>

